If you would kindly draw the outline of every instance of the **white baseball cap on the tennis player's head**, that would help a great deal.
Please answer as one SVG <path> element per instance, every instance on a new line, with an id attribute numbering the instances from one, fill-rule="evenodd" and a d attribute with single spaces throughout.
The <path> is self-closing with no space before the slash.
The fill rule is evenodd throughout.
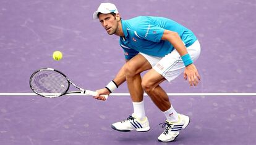
<path id="1" fill-rule="evenodd" d="M 93 13 L 93 19 L 98 18 L 98 13 L 102 14 L 109 14 L 111 12 L 118 14 L 118 10 L 114 4 L 111 4 L 109 2 L 101 3 L 100 6 L 98 7 L 98 10 Z"/>

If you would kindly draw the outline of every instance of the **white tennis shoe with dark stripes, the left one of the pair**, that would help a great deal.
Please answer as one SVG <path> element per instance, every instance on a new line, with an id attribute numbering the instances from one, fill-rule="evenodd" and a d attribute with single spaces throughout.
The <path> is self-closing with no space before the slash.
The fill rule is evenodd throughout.
<path id="1" fill-rule="evenodd" d="M 145 117 L 143 120 L 136 119 L 134 114 L 132 114 L 132 116 L 129 116 L 126 120 L 113 123 L 111 125 L 111 128 L 117 131 L 122 131 L 122 132 L 127 132 L 132 130 L 145 132 L 150 130 L 148 118 Z"/>

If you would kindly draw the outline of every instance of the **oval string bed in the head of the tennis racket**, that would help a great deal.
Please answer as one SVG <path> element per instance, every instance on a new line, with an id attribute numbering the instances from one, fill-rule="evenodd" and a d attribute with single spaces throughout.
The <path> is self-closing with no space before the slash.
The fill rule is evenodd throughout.
<path id="1" fill-rule="evenodd" d="M 63 95 L 69 88 L 69 82 L 65 76 L 48 69 L 36 72 L 30 85 L 36 93 L 46 97 Z"/>

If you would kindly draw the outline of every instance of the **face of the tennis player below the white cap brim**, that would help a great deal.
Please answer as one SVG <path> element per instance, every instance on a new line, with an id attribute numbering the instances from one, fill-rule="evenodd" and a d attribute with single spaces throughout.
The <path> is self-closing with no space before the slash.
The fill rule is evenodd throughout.
<path id="1" fill-rule="evenodd" d="M 117 14 L 118 15 L 118 14 Z M 106 29 L 109 35 L 115 34 L 118 29 L 118 21 L 116 17 L 111 14 L 100 14 L 99 20 L 103 28 Z"/>

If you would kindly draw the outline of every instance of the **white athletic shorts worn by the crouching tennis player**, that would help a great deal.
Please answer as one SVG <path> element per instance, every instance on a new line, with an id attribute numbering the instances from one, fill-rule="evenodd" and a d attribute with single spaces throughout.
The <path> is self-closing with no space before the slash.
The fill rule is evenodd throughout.
<path id="1" fill-rule="evenodd" d="M 194 44 L 187 47 L 187 52 L 194 62 L 199 57 L 200 51 L 201 47 L 198 41 L 195 41 Z M 140 54 L 143 55 L 152 68 L 168 80 L 168 82 L 171 82 L 171 80 L 174 80 L 179 74 L 184 72 L 184 63 L 176 49 L 164 57 L 153 57 L 145 53 Z"/>

